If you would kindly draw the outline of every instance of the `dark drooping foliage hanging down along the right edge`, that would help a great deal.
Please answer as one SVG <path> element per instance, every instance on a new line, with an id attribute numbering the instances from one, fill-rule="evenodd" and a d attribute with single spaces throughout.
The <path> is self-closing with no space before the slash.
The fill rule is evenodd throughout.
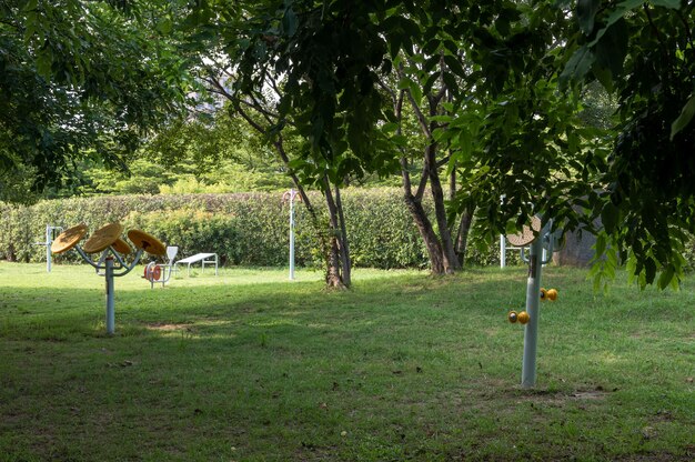
<path id="1" fill-rule="evenodd" d="M 597 80 L 617 96 L 605 192 L 592 194 L 590 204 L 603 219 L 610 259 L 629 261 L 643 287 L 656 281 L 664 288 L 677 282 L 687 233 L 695 231 L 695 6 L 598 7 L 577 3 L 578 29 L 570 36 L 563 73 L 567 83 Z"/>

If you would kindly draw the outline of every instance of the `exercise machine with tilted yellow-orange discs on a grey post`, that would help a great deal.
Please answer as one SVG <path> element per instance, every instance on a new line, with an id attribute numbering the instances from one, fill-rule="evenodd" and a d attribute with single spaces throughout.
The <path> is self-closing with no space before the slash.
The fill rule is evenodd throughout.
<path id="1" fill-rule="evenodd" d="M 123 225 L 114 222 L 107 224 L 94 231 L 90 238 L 80 247 L 78 243 L 87 235 L 87 225 L 78 224 L 60 233 L 51 244 L 53 253 L 63 253 L 74 249 L 82 260 L 97 270 L 98 275 L 102 275 L 107 283 L 107 333 L 112 335 L 115 331 L 115 309 L 113 299 L 113 278 L 128 274 L 135 268 L 142 254 L 148 252 L 152 255 L 164 255 L 165 249 L 157 238 L 140 230 L 128 231 L 128 239 L 138 249 L 132 262 L 127 263 L 124 255 L 132 252 L 130 244 L 121 239 Z M 98 260 L 93 260 L 90 254 L 101 252 Z"/>

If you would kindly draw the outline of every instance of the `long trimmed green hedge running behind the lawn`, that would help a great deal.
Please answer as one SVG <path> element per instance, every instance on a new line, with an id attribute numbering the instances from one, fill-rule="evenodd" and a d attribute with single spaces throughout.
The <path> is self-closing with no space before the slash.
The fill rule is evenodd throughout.
<path id="1" fill-rule="evenodd" d="M 343 208 L 353 264 L 381 269 L 425 268 L 424 242 L 403 204 L 397 188 L 345 190 Z M 324 207 L 320 193 L 310 193 Z M 427 205 L 431 209 L 431 205 Z M 32 207 L 0 203 L 0 259 L 46 260 L 46 225 L 69 228 L 85 223 L 90 231 L 121 221 L 125 230 L 141 229 L 162 242 L 179 245 L 178 258 L 215 252 L 225 264 L 278 267 L 288 264 L 289 204 L 281 193 L 120 195 L 41 201 Z M 320 232 L 306 209 L 295 205 L 295 262 L 321 265 Z M 324 211 L 321 210 L 321 213 Z M 325 215 L 322 223 L 328 222 Z M 469 262 L 495 264 L 498 250 L 471 248 Z M 77 252 L 57 261 L 79 262 Z"/>

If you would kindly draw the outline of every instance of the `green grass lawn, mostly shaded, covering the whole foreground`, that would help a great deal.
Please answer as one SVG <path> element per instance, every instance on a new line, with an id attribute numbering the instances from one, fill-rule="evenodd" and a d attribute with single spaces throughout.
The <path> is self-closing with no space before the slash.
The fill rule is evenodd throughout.
<path id="1" fill-rule="evenodd" d="M 595 294 L 547 268 L 522 390 L 525 269 L 200 271 L 150 289 L 0 262 L 0 461 L 695 459 L 695 277 Z"/>

